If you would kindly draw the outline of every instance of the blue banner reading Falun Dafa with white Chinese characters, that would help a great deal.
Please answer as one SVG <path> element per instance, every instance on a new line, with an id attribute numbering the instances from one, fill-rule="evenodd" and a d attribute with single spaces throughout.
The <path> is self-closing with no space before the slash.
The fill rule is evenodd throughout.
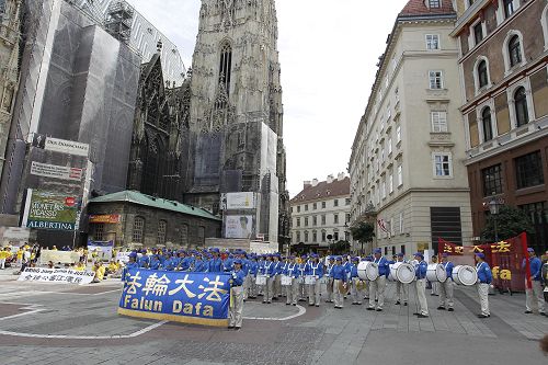
<path id="1" fill-rule="evenodd" d="M 118 313 L 192 324 L 227 326 L 230 275 L 129 269 Z"/>

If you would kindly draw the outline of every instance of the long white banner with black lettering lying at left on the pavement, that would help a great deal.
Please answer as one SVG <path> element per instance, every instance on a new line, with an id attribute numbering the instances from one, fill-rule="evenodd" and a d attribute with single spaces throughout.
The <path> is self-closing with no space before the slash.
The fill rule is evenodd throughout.
<path id="1" fill-rule="evenodd" d="M 19 275 L 20 282 L 43 282 L 55 284 L 90 284 L 95 277 L 92 271 L 76 271 L 70 269 L 26 267 Z"/>

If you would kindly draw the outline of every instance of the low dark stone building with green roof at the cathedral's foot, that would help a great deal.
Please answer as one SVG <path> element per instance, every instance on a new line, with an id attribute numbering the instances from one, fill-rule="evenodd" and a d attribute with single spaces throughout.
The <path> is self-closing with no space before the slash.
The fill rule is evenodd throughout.
<path id="1" fill-rule="evenodd" d="M 221 219 L 207 210 L 135 191 L 89 204 L 89 239 L 116 247 L 201 248 L 220 231 Z"/>

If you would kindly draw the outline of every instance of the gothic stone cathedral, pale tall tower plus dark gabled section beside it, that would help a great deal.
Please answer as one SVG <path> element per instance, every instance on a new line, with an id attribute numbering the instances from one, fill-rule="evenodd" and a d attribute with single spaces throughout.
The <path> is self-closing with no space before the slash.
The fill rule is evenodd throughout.
<path id="1" fill-rule="evenodd" d="M 130 187 L 183 196 L 184 203 L 222 216 L 225 224 L 227 218 L 251 220 L 251 239 L 288 243 L 276 43 L 275 0 L 202 0 L 183 87 L 164 87 L 156 58 L 144 68 Z M 228 210 L 220 203 L 224 194 L 239 192 L 254 193 L 252 209 Z"/>

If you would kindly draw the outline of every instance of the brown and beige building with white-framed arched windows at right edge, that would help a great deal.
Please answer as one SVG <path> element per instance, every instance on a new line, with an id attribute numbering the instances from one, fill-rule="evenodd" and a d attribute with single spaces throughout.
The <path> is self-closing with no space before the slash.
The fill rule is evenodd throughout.
<path id="1" fill-rule="evenodd" d="M 473 236 L 491 201 L 517 206 L 548 244 L 548 1 L 458 0 L 459 71 Z"/>

